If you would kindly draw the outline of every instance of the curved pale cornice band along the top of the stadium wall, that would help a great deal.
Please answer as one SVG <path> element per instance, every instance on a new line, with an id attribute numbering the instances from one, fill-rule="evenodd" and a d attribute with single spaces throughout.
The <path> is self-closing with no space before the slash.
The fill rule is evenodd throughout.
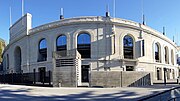
<path id="1" fill-rule="evenodd" d="M 142 25 L 140 23 L 121 19 L 121 18 L 110 18 L 110 17 L 103 17 L 103 16 L 84 16 L 84 17 L 77 17 L 77 18 L 62 19 L 59 21 L 55 21 L 55 22 L 51 22 L 48 24 L 44 24 L 44 25 L 35 27 L 35 28 L 29 30 L 29 35 L 32 35 L 32 34 L 35 34 L 35 33 L 41 32 L 41 31 L 49 30 L 52 28 L 68 26 L 68 25 L 75 25 L 75 24 L 83 24 L 83 23 L 102 23 L 102 24 L 108 23 L 108 24 L 114 24 L 117 26 L 122 26 L 122 27 L 127 27 L 127 28 L 144 31 L 147 34 L 152 34 L 162 40 L 167 41 L 174 47 L 177 47 L 177 45 L 174 42 L 172 42 L 172 40 L 170 40 L 168 37 L 166 37 L 162 33 L 158 32 L 146 25 Z"/>

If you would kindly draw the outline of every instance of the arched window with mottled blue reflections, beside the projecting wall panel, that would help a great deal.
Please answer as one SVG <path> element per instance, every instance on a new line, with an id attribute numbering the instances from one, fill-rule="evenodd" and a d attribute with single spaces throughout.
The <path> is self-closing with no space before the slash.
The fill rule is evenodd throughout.
<path id="1" fill-rule="evenodd" d="M 133 38 L 129 35 L 126 35 L 123 39 L 124 43 L 124 58 L 133 59 Z"/>

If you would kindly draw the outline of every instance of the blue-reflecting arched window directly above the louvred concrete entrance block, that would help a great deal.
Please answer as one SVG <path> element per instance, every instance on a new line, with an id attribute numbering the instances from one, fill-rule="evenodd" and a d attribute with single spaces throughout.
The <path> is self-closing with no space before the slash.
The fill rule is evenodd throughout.
<path id="1" fill-rule="evenodd" d="M 67 50 L 67 38 L 65 35 L 61 35 L 56 40 L 56 50 L 64 51 Z"/>

